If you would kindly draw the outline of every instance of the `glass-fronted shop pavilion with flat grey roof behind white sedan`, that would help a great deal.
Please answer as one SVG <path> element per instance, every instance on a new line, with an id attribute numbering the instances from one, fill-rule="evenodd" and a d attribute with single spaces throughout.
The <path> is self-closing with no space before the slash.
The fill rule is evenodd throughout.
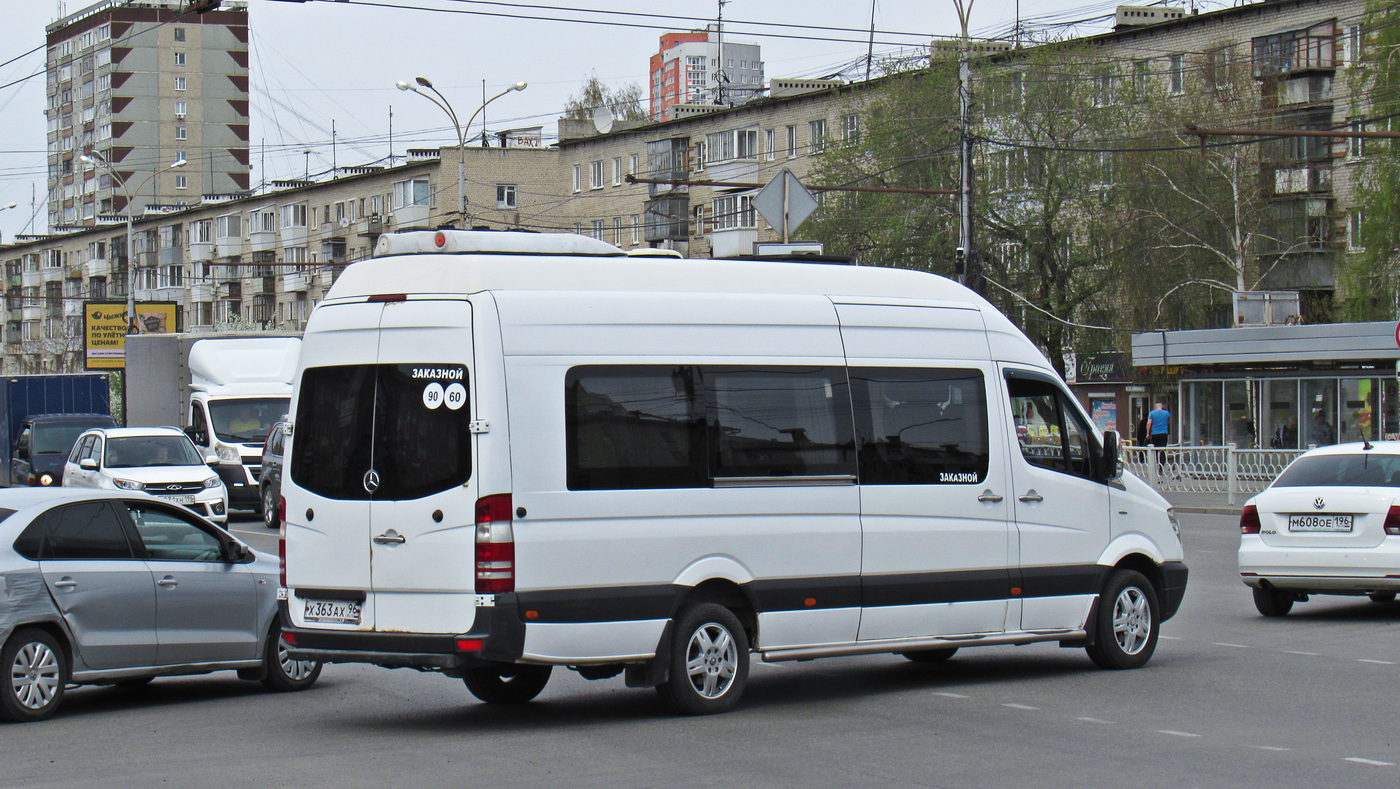
<path id="1" fill-rule="evenodd" d="M 1180 368 L 1173 442 L 1301 449 L 1400 438 L 1394 323 L 1151 332 L 1133 361 Z"/>

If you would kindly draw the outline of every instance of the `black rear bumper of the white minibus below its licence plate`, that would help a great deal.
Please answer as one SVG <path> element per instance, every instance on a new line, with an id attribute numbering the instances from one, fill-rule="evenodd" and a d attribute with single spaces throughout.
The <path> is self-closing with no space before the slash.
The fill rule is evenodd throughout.
<path id="1" fill-rule="evenodd" d="M 463 634 L 375 632 L 294 627 L 287 602 L 279 603 L 287 652 L 297 660 L 374 663 L 389 669 L 438 669 L 448 674 L 489 663 L 515 663 L 525 652 L 525 623 L 515 596 L 497 595 L 494 606 L 476 609 Z"/>

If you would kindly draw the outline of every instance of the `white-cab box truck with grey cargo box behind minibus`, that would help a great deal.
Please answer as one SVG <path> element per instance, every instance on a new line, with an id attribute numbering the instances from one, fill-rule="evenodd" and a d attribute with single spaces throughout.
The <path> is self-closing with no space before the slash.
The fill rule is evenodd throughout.
<path id="1" fill-rule="evenodd" d="M 262 511 L 267 431 L 287 413 L 294 334 L 137 334 L 126 341 L 127 427 L 183 428 L 228 488 L 232 509 Z"/>

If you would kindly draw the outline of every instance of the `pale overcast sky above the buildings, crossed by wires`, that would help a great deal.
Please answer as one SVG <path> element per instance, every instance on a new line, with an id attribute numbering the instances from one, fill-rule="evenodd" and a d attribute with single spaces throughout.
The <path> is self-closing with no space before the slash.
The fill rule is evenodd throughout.
<path id="1" fill-rule="evenodd" d="M 48 24 L 90 4 L 0 0 L 0 20 L 4 20 L 0 63 L 14 59 L 0 66 L 0 85 L 8 85 L 0 87 L 0 206 L 18 203 L 15 208 L 0 211 L 4 242 L 13 241 L 17 232 L 46 231 L 43 50 L 21 55 L 43 43 Z M 493 130 L 543 126 L 545 134 L 553 136 L 564 102 L 578 92 L 588 74 L 596 73 L 610 85 L 637 83 L 645 92 L 648 57 L 657 50 L 659 35 L 666 29 L 701 27 L 704 22 L 699 20 L 713 18 L 717 11 L 715 0 L 249 0 L 248 4 L 255 185 L 297 178 L 307 169 L 312 175 L 325 172 L 332 166 L 332 157 L 339 166 L 388 157 L 391 108 L 395 154 L 402 155 L 410 145 L 455 143 L 455 132 L 442 111 L 421 97 L 395 90 L 396 80 L 412 81 L 414 76 L 428 77 L 463 119 L 480 105 L 483 80 L 487 97 L 512 83 L 526 81 L 529 88 L 524 92 L 493 102 L 484 113 L 486 120 Z M 1204 0 L 1201 7 L 1226 4 L 1233 0 Z M 1019 0 L 1019 14 L 1032 27 L 1089 20 L 1072 29 L 1093 34 L 1112 27 L 1103 17 L 1112 15 L 1116 6 L 1113 0 Z M 581 7 L 657 17 L 570 10 Z M 864 57 L 868 32 L 745 22 L 868 31 L 871 3 L 729 0 L 724 15 L 727 39 L 763 46 L 766 78 L 819 77 Z M 1009 35 L 1016 17 L 1018 0 L 974 0 L 972 34 Z M 900 45 L 955 35 L 958 17 L 953 0 L 876 0 L 875 28 L 879 57 L 897 52 Z M 36 77 L 10 85 L 35 73 Z M 333 152 L 332 125 L 337 140 Z M 480 120 L 473 126 L 479 129 Z M 309 155 L 304 152 L 308 150 Z M 31 196 L 36 201 L 32 208 Z"/>

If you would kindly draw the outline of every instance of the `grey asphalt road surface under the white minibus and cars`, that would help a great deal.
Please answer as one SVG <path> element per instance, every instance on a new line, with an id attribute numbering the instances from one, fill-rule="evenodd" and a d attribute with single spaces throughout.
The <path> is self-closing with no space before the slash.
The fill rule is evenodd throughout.
<path id="1" fill-rule="evenodd" d="M 1235 574 L 1235 519 L 1183 520 L 1186 602 L 1137 671 L 1054 645 L 755 664 L 735 712 L 692 719 L 557 669 L 507 709 L 370 666 L 290 695 L 167 678 L 80 688 L 53 720 L 0 727 L 0 785 L 1400 785 L 1400 603 L 1315 597 L 1264 620 Z M 234 529 L 276 550 L 260 523 Z"/>

